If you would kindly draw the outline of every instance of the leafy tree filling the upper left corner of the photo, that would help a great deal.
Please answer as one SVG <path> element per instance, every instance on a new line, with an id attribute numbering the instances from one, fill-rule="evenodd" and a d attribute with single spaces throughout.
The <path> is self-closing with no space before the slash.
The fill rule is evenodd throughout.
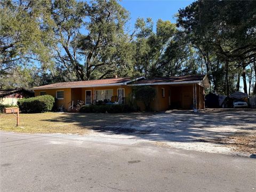
<path id="1" fill-rule="evenodd" d="M 0 2 L 1 82 L 19 74 L 22 70 L 29 70 L 28 67 L 34 67 L 35 62 L 42 68 L 52 65 L 50 51 L 52 42 L 49 38 L 51 31 L 41 28 L 45 21 L 44 3 L 44 1 L 25 0 Z M 4 87 L 3 83 L 1 87 Z"/>

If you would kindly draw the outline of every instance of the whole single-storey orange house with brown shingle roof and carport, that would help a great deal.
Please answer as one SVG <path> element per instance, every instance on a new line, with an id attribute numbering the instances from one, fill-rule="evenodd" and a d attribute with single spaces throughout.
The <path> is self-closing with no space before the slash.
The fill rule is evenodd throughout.
<path id="1" fill-rule="evenodd" d="M 133 87 L 153 86 L 157 97 L 151 108 L 156 111 L 177 109 L 203 109 L 204 89 L 209 87 L 207 76 L 190 75 L 146 79 L 145 77 L 122 77 L 99 79 L 92 81 L 77 81 L 54 83 L 34 87 L 35 95 L 50 94 L 57 98 L 57 106 L 70 110 L 78 100 L 85 105 L 95 105 L 107 102 L 129 103 Z M 144 106 L 138 102 L 143 110 Z"/>

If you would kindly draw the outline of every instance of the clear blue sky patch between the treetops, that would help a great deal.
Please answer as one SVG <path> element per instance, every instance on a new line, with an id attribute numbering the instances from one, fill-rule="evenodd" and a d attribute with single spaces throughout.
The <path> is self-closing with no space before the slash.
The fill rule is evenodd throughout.
<path id="1" fill-rule="evenodd" d="M 164 21 L 170 20 L 175 23 L 174 15 L 178 13 L 178 10 L 185 8 L 192 2 L 194 1 L 123 0 L 119 2 L 119 4 L 130 12 L 131 20 L 127 24 L 129 25 L 129 28 L 132 29 L 137 18 L 152 18 L 155 24 L 158 19 L 162 19 Z"/>

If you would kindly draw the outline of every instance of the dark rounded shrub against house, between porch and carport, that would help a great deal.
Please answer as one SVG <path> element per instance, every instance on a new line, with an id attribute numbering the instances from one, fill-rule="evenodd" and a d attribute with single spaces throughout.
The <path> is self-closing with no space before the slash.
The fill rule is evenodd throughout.
<path id="1" fill-rule="evenodd" d="M 146 111 L 150 111 L 150 102 L 156 98 L 156 90 L 151 86 L 139 86 L 133 91 L 135 98 L 144 102 Z"/>

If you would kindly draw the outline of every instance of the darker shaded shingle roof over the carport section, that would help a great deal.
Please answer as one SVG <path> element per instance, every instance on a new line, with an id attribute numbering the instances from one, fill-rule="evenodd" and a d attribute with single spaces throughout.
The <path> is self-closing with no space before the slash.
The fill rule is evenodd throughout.
<path id="1" fill-rule="evenodd" d="M 187 75 L 179 77 L 160 77 L 160 78 L 151 78 L 143 79 L 141 81 L 135 82 L 134 84 L 156 84 L 156 83 L 174 83 L 174 82 L 194 82 L 194 81 L 203 81 L 205 75 Z"/>

